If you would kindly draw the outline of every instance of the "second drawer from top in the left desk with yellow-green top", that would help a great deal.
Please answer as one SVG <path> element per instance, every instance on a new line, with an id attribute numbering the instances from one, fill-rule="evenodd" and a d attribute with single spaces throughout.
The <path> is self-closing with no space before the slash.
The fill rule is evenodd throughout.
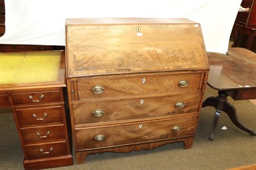
<path id="1" fill-rule="evenodd" d="M 64 105 L 38 107 L 38 108 L 15 108 L 15 115 L 19 127 L 31 127 L 45 124 L 63 124 Z"/>

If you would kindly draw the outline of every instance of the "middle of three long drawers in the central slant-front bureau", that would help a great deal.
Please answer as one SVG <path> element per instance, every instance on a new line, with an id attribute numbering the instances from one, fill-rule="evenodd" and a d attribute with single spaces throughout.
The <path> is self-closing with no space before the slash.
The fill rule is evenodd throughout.
<path id="1" fill-rule="evenodd" d="M 195 113 L 199 110 L 201 96 L 202 93 L 193 93 L 73 104 L 74 123 L 76 125 L 90 124 L 132 118 Z"/>

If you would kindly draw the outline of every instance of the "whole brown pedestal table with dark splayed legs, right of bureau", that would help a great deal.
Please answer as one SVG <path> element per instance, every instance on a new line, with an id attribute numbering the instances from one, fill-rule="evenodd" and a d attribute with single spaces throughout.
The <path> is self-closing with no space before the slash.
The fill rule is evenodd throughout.
<path id="1" fill-rule="evenodd" d="M 207 53 L 210 73 L 207 84 L 218 90 L 217 97 L 207 98 L 202 107 L 214 106 L 216 108 L 209 139 L 214 139 L 214 131 L 221 115 L 227 113 L 230 120 L 252 136 L 256 133 L 244 127 L 239 121 L 236 108 L 228 103 L 227 97 L 234 100 L 256 99 L 256 53 L 246 48 L 230 48 L 228 55 L 221 53 Z"/>

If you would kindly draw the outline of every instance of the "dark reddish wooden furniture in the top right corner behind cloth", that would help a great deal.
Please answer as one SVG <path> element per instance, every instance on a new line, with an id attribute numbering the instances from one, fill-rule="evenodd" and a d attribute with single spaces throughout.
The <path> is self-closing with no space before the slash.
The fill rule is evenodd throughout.
<path id="1" fill-rule="evenodd" d="M 237 13 L 233 27 L 234 43 L 232 47 L 240 46 L 256 51 L 256 47 L 253 46 L 253 40 L 256 36 L 256 3 L 254 0 L 243 0 L 241 6 L 250 8 L 250 13 Z M 247 36 L 245 43 L 243 42 L 244 34 Z"/>

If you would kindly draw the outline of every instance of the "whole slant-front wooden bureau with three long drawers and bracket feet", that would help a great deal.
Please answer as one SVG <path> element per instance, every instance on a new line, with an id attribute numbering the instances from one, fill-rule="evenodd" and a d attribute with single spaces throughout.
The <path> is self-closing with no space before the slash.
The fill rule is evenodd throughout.
<path id="1" fill-rule="evenodd" d="M 89 154 L 191 148 L 209 66 L 200 24 L 67 19 L 67 86 L 77 164 Z"/>

